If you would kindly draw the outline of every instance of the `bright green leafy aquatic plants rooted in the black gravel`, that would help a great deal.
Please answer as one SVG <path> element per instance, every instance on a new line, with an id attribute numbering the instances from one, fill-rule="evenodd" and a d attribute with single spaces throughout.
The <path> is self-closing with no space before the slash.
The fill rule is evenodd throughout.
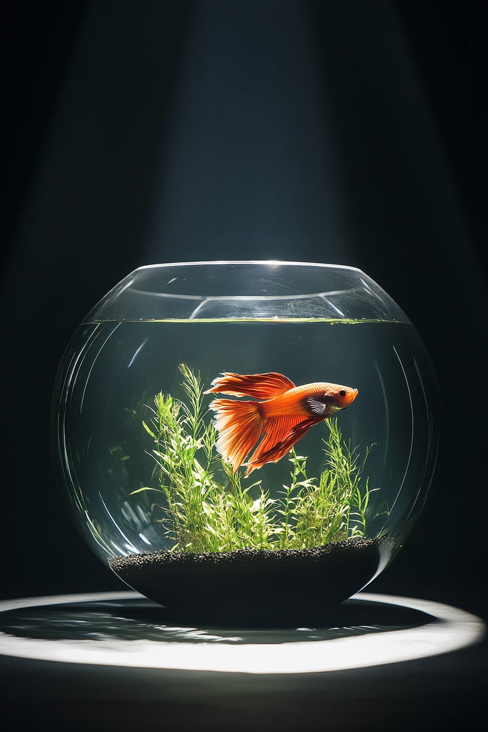
<path id="1" fill-rule="evenodd" d="M 215 449 L 217 432 L 206 422 L 200 375 L 182 364 L 187 400 L 159 392 L 149 424 L 143 428 L 154 447 L 154 490 L 162 501 L 159 522 L 173 539 L 172 550 L 206 553 L 241 549 L 305 549 L 350 537 L 366 530 L 369 479 L 358 449 L 342 439 L 337 419 L 326 420 L 324 468 L 320 477 L 307 476 L 307 458 L 291 451 L 290 483 L 279 498 L 270 498 L 262 481 L 243 485 L 241 471 Z"/>

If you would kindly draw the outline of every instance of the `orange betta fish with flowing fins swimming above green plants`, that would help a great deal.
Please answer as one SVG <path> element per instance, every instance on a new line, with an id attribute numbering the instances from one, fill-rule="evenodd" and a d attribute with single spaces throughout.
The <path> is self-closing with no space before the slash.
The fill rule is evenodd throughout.
<path id="1" fill-rule="evenodd" d="M 295 386 L 289 378 L 274 372 L 225 372 L 204 393 L 259 400 L 214 399 L 210 404 L 216 412 L 217 450 L 232 464 L 234 473 L 263 436 L 252 458 L 244 463 L 249 475 L 265 463 L 277 463 L 312 425 L 348 407 L 358 390 L 326 381 Z"/>

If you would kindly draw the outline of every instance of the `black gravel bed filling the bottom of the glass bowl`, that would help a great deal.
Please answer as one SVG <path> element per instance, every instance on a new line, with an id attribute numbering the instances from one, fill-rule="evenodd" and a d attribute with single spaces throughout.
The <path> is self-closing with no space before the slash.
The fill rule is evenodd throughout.
<path id="1" fill-rule="evenodd" d="M 347 539 L 302 550 L 131 554 L 110 567 L 163 605 L 168 621 L 316 626 L 375 575 L 380 551 L 390 551 L 381 539 Z"/>

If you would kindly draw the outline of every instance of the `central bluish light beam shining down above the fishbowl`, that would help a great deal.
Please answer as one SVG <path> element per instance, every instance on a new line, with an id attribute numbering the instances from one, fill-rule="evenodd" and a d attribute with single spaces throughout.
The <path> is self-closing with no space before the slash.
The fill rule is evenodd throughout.
<path id="1" fill-rule="evenodd" d="M 315 43 L 305 4 L 196 5 L 154 156 L 153 261 L 168 242 L 209 258 L 320 247 L 344 261 L 342 173 Z"/>

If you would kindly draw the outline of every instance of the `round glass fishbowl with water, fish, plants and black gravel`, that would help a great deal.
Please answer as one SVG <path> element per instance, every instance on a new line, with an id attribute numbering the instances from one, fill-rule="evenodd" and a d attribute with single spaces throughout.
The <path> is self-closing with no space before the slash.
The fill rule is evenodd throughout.
<path id="1" fill-rule="evenodd" d="M 359 269 L 157 264 L 72 337 L 55 459 L 90 547 L 172 616 L 317 623 L 412 529 L 437 413 L 416 329 Z"/>

